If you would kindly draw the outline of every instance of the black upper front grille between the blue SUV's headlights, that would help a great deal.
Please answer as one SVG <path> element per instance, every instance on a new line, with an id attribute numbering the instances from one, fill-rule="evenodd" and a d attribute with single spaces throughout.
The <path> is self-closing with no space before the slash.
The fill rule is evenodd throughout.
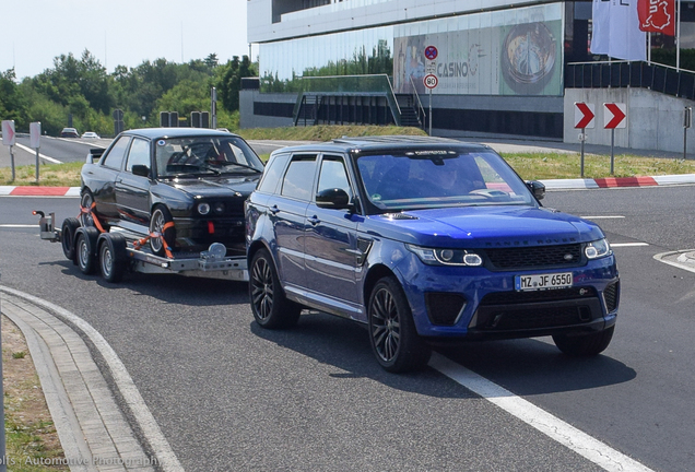
<path id="1" fill-rule="evenodd" d="M 491 270 L 551 269 L 584 266 L 581 245 L 484 249 Z"/>

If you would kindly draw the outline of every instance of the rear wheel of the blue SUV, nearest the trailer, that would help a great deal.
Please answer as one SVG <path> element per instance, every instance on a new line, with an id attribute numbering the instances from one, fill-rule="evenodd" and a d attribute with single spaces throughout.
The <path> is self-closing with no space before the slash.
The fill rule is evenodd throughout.
<path id="1" fill-rule="evenodd" d="M 251 259 L 248 291 L 251 311 L 260 327 L 288 328 L 299 320 L 302 306 L 285 297 L 275 264 L 266 249 L 258 250 Z"/>

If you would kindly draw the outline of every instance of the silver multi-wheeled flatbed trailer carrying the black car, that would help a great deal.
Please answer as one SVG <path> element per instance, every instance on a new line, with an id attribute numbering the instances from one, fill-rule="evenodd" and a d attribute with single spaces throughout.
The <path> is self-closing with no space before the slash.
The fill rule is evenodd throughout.
<path id="1" fill-rule="evenodd" d="M 58 229 L 54 225 L 55 213 L 46 216 L 43 211 L 35 210 L 33 214 L 39 216 L 42 239 L 60 243 L 66 258 L 78 266 L 82 273 L 99 271 L 107 282 L 120 282 L 129 270 L 238 282 L 249 280 L 246 256 L 227 257 L 226 247 L 221 243 L 213 243 L 207 251 L 161 257 L 144 247 L 149 237 L 158 235 L 142 238 L 117 226 L 99 232 L 94 226 L 82 226 L 76 217 L 66 219 Z"/>

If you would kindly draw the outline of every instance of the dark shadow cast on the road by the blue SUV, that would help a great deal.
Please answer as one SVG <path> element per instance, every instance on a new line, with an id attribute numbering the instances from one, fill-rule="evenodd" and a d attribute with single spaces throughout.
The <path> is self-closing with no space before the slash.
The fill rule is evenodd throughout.
<path id="1" fill-rule="evenodd" d="M 349 320 L 310 312 L 290 330 L 266 330 L 255 322 L 250 329 L 259 338 L 341 370 L 331 377 L 367 377 L 432 397 L 461 397 L 458 386 L 443 390 L 440 381 L 422 381 L 440 379 L 434 369 L 407 375 L 382 370 L 374 358 L 365 327 Z M 634 369 L 610 356 L 574 358 L 539 340 L 470 342 L 438 351 L 519 396 L 592 389 L 631 381 L 637 376 Z"/>

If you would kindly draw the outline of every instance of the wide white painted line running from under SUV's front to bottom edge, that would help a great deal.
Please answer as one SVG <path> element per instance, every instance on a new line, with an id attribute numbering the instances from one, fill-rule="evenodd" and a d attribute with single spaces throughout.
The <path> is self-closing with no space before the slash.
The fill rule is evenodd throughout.
<path id="1" fill-rule="evenodd" d="M 429 366 L 606 471 L 651 471 L 545 410 L 438 353 L 433 354 Z"/>

